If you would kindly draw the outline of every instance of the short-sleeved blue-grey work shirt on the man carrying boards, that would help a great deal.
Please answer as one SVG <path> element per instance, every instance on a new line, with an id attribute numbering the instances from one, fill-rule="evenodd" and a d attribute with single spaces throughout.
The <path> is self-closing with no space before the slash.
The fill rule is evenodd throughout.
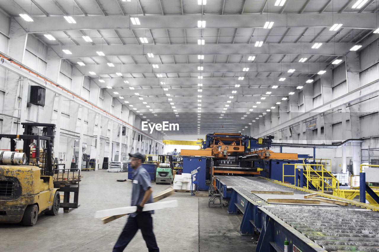
<path id="1" fill-rule="evenodd" d="M 133 170 L 133 181 L 132 181 L 132 206 L 138 205 L 141 203 L 145 191 L 151 187 L 150 175 L 145 168 L 139 166 L 136 170 Z M 146 204 L 153 203 L 153 196 L 150 195 L 150 198 L 147 200 Z M 146 211 L 153 214 L 154 210 Z M 131 213 L 130 216 L 135 217 L 137 213 Z"/>

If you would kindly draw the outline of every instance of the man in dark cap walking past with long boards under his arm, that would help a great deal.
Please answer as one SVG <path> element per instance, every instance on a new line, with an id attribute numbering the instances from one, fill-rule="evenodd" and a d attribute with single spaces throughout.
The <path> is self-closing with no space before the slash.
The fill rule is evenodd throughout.
<path id="1" fill-rule="evenodd" d="M 132 186 L 132 206 L 137 207 L 137 211 L 131 213 L 122 230 L 113 252 L 124 251 L 134 235 L 141 229 L 142 236 L 146 242 L 149 252 L 159 252 L 157 241 L 153 233 L 153 218 L 151 215 L 154 210 L 143 211 L 147 203 L 153 203 L 152 188 L 149 173 L 141 166 L 145 162 L 145 156 L 141 153 L 130 154 L 130 166 L 133 168 L 133 186 Z"/>

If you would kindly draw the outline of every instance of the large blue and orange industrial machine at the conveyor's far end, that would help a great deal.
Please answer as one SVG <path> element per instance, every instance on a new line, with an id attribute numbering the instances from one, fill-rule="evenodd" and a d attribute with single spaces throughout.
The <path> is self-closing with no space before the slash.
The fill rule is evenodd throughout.
<path id="1" fill-rule="evenodd" d="M 299 158 L 309 156 L 270 151 L 273 138 L 256 139 L 236 133 L 208 134 L 202 142 L 202 149 L 182 149 L 183 173 L 190 173 L 200 166 L 200 190 L 208 190 L 212 177 L 218 175 L 263 176 L 281 180 L 283 163 L 298 163 Z M 294 177 L 287 176 L 286 179 L 294 180 Z"/>

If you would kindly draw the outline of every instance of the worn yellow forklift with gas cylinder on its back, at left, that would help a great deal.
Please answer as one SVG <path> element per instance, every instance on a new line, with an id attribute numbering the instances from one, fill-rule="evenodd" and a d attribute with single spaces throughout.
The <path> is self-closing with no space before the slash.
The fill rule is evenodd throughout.
<path id="1" fill-rule="evenodd" d="M 25 128 L 23 135 L 0 134 L 0 140 L 9 138 L 11 141 L 11 151 L 0 152 L 0 223 L 22 222 L 25 226 L 34 226 L 41 213 L 57 215 L 60 207 L 78 207 L 77 202 L 69 203 L 69 191 L 75 192 L 77 201 L 78 187 L 72 190 L 65 185 L 61 190 L 60 184 L 53 183 L 55 124 L 21 124 Z M 42 135 L 39 134 L 41 128 Z M 22 153 L 15 152 L 17 140 L 23 140 Z M 33 140 L 36 140 L 35 161 L 30 159 Z M 40 147 L 43 149 L 41 156 Z M 65 192 L 66 203 L 63 205 L 59 190 Z"/>

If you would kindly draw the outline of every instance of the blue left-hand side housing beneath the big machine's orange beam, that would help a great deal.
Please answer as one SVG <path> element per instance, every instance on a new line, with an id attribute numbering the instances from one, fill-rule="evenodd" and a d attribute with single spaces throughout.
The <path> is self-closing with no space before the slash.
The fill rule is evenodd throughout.
<path id="1" fill-rule="evenodd" d="M 206 157 L 183 157 L 183 173 L 191 173 L 194 169 L 200 167 L 197 173 L 197 183 L 200 190 L 208 190 L 209 185 L 206 185 L 206 180 L 210 179 L 209 169 L 207 173 L 207 158 Z"/>

